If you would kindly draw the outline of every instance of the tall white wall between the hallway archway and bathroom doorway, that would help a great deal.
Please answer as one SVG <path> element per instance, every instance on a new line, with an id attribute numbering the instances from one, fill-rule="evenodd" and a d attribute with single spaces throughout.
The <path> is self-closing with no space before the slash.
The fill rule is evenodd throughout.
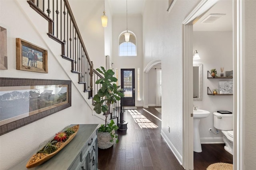
<path id="1" fill-rule="evenodd" d="M 162 135 L 182 162 L 182 22 L 199 0 L 146 1 L 143 14 L 144 67 L 162 59 Z M 170 127 L 170 133 L 168 132 Z"/>

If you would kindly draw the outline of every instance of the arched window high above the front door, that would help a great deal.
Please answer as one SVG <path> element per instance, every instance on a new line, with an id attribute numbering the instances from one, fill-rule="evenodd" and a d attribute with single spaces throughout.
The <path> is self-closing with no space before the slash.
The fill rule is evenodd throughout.
<path id="1" fill-rule="evenodd" d="M 130 32 L 130 41 L 126 42 L 124 38 L 125 32 L 119 36 L 119 56 L 137 56 L 135 35 Z"/>

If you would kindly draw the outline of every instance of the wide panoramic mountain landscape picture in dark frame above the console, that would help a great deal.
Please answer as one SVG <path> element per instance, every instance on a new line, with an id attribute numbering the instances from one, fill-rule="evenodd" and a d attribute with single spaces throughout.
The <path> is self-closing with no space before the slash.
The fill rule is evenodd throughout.
<path id="1" fill-rule="evenodd" d="M 0 78 L 0 135 L 70 106 L 70 80 Z"/>

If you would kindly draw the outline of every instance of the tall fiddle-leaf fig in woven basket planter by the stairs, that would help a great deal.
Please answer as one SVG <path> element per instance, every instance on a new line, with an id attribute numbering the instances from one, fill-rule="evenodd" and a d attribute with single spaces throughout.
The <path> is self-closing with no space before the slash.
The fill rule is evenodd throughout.
<path id="1" fill-rule="evenodd" d="M 98 93 L 94 95 L 94 111 L 98 114 L 103 112 L 105 116 L 105 124 L 101 125 L 98 129 L 98 147 L 100 149 L 107 149 L 112 147 L 114 141 L 118 143 L 117 135 L 115 131 L 118 129 L 117 125 L 114 125 L 114 121 L 111 120 L 107 123 L 108 115 L 111 114 L 110 105 L 119 101 L 121 97 L 124 97 L 122 93 L 123 89 L 117 86 L 114 82 L 117 82 L 117 78 L 113 77 L 114 72 L 112 70 L 105 70 L 104 67 L 96 69 L 103 78 L 100 78 L 95 83 L 101 84 L 101 88 Z"/>

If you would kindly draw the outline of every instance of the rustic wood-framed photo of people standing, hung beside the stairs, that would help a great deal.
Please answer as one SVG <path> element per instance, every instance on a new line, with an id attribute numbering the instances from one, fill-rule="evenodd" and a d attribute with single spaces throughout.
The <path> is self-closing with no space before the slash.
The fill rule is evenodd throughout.
<path id="1" fill-rule="evenodd" d="M 16 69 L 48 73 L 47 50 L 16 38 Z"/>

